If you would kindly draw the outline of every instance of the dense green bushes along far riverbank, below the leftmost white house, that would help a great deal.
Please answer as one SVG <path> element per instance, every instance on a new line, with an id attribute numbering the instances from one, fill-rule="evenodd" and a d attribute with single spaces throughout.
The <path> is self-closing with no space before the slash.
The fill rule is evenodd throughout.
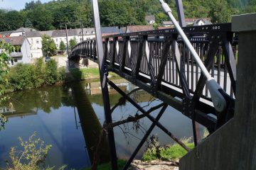
<path id="1" fill-rule="evenodd" d="M 35 64 L 18 63 L 11 67 L 5 76 L 4 86 L 9 91 L 32 89 L 52 85 L 65 80 L 65 69 L 57 69 L 57 62 L 49 60 L 43 62 L 43 58 L 36 60 Z"/>

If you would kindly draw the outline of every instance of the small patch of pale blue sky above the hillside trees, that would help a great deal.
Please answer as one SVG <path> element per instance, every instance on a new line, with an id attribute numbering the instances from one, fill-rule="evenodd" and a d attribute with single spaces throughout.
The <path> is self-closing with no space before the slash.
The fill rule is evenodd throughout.
<path id="1" fill-rule="evenodd" d="M 0 0 L 0 8 L 14 9 L 20 11 L 25 7 L 26 2 L 32 0 Z M 41 0 L 42 3 L 52 1 L 52 0 Z"/>

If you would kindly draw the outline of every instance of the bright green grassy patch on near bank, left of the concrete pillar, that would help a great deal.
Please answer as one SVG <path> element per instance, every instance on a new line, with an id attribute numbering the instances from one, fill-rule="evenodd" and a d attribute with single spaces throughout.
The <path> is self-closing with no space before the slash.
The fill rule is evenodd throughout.
<path id="1" fill-rule="evenodd" d="M 194 144 L 191 142 L 184 142 L 187 147 L 193 149 Z M 186 150 L 178 144 L 165 147 L 152 147 L 147 149 L 142 156 L 142 161 L 149 162 L 156 159 L 164 161 L 176 161 L 186 154 Z"/>

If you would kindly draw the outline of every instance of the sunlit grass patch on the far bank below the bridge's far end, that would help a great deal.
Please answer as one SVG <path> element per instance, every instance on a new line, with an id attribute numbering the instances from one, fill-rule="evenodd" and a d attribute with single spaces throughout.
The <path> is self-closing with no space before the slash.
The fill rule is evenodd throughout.
<path id="1" fill-rule="evenodd" d="M 98 68 L 83 68 L 83 69 L 70 69 L 75 80 L 88 80 L 88 79 L 100 79 L 100 72 Z M 109 72 L 110 76 L 117 77 L 117 74 Z"/>

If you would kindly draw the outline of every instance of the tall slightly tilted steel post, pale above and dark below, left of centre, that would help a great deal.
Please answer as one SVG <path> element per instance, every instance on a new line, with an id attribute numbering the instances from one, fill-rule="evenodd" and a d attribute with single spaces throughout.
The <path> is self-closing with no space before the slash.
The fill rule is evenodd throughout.
<path id="1" fill-rule="evenodd" d="M 102 99 L 104 103 L 104 111 L 105 111 L 105 120 L 106 123 L 112 123 L 112 116 L 110 113 L 110 96 L 108 94 L 107 89 L 107 63 L 106 58 L 103 54 L 103 45 L 102 45 L 102 34 L 100 30 L 100 14 L 97 0 L 92 0 L 92 9 L 94 14 L 95 21 L 95 33 L 97 40 L 97 57 L 99 61 L 99 69 L 100 69 L 100 84 L 102 88 Z M 114 132 L 113 129 L 107 130 L 108 143 L 110 145 L 110 156 L 111 156 L 111 166 L 112 169 L 117 169 L 117 153 L 114 143 Z"/>

